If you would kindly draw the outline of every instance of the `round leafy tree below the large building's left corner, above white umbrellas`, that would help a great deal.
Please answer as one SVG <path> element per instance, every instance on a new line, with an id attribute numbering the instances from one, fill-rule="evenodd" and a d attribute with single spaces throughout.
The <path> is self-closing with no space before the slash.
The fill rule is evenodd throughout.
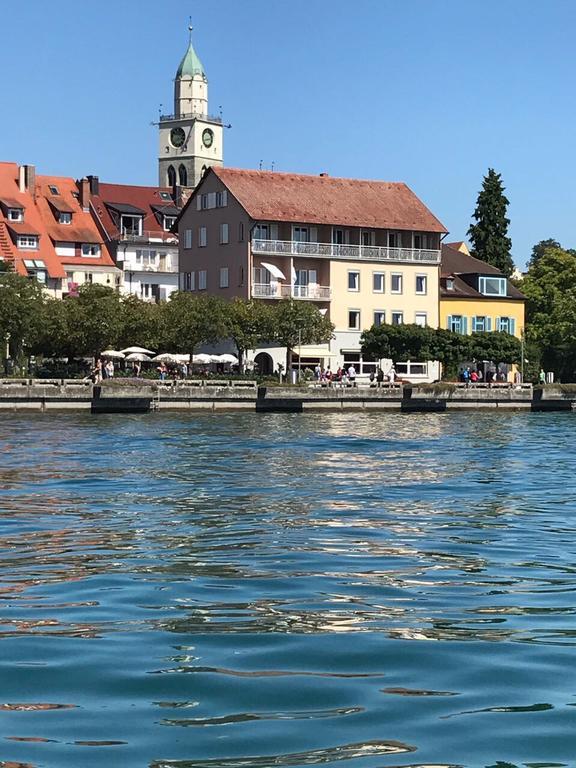
<path id="1" fill-rule="evenodd" d="M 216 343 L 228 336 L 227 302 L 223 299 L 175 291 L 170 301 L 160 306 L 160 343 L 168 352 L 192 356 L 199 344 Z"/>

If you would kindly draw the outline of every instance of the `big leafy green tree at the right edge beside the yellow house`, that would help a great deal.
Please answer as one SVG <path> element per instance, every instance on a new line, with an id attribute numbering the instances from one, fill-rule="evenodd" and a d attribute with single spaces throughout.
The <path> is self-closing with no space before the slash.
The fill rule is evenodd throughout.
<path id="1" fill-rule="evenodd" d="M 526 329 L 543 367 L 562 381 L 576 373 L 576 255 L 546 248 L 522 281 Z M 533 352 L 531 352 L 531 355 Z"/>

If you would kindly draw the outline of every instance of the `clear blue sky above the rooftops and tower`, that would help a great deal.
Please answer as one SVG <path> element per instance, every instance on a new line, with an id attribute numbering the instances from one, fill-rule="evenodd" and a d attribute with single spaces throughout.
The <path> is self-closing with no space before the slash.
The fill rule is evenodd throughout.
<path id="1" fill-rule="evenodd" d="M 188 15 L 226 165 L 405 181 L 449 240 L 493 167 L 518 265 L 576 247 L 574 0 L 6 3 L 0 159 L 155 184 Z"/>

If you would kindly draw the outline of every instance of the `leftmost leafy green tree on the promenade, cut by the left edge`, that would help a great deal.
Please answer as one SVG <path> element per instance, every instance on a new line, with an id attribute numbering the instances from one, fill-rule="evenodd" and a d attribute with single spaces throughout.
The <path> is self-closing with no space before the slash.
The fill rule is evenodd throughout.
<path id="1" fill-rule="evenodd" d="M 0 273 L 0 343 L 12 357 L 32 347 L 40 334 L 44 295 L 36 280 L 12 271 Z"/>

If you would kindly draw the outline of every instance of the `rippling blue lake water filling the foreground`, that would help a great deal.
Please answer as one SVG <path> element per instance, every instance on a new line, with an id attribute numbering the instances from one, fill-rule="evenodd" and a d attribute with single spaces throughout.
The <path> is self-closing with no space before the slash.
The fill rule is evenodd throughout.
<path id="1" fill-rule="evenodd" d="M 0 418 L 0 766 L 574 766 L 570 414 Z"/>

